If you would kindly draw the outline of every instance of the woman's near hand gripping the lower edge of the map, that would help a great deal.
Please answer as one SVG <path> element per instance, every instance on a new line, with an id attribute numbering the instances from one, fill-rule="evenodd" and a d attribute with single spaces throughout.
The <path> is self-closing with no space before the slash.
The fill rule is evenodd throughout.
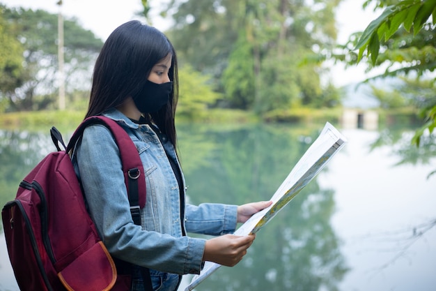
<path id="1" fill-rule="evenodd" d="M 233 267 L 242 260 L 242 257 L 247 253 L 247 248 L 253 244 L 254 238 L 254 234 L 245 237 L 226 234 L 208 239 L 204 248 L 203 261 Z"/>

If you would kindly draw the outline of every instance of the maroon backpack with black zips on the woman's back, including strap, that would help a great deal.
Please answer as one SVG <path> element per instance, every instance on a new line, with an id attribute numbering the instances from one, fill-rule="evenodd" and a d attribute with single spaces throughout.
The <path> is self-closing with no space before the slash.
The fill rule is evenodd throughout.
<path id="1" fill-rule="evenodd" d="M 139 208 L 145 206 L 146 183 L 137 148 L 126 131 L 107 117 L 90 117 L 61 151 L 59 142 L 65 148 L 61 133 L 52 128 L 58 151 L 33 168 L 20 183 L 15 200 L 1 211 L 10 263 L 20 290 L 130 290 L 130 276 L 117 276 L 114 260 L 88 215 L 69 155 L 91 124 L 107 126 L 114 135 L 132 217 L 140 223 Z M 144 281 L 150 284 L 149 280 L 148 273 Z"/>

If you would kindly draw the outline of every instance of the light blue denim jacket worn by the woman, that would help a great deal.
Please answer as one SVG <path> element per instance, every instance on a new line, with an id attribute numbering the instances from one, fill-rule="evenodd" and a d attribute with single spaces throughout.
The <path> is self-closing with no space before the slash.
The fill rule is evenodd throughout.
<path id="1" fill-rule="evenodd" d="M 102 125 L 86 128 L 72 161 L 91 217 L 109 253 L 150 268 L 152 276 L 198 274 L 205 239 L 183 234 L 231 233 L 236 227 L 237 207 L 212 203 L 185 205 L 185 186 L 180 199 L 178 181 L 166 156 L 174 158 L 180 167 L 171 142 L 160 142 L 150 126 L 135 124 L 118 110 L 109 110 L 104 115 L 118 121 L 136 145 L 147 191 L 141 226 L 134 225 L 114 138 Z M 185 185 L 183 174 L 182 183 Z M 185 217 L 181 217 L 181 207 L 185 207 Z"/>

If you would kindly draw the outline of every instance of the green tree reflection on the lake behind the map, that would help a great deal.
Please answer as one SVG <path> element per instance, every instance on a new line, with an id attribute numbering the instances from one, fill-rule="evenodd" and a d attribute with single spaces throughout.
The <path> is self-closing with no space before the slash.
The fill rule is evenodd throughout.
<path id="1" fill-rule="evenodd" d="M 265 125 L 197 130 L 203 140 L 180 140 L 194 203 L 269 199 L 318 135 L 318 130 Z M 202 151 L 202 165 L 185 163 L 197 154 L 198 142 L 213 147 Z M 313 181 L 260 230 L 242 265 L 219 269 L 198 290 L 335 290 L 347 268 L 329 225 L 333 196 Z"/>

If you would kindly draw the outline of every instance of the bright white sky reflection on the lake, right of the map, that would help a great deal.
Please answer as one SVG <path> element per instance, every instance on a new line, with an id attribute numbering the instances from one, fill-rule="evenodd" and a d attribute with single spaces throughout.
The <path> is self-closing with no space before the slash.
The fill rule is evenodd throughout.
<path id="1" fill-rule="evenodd" d="M 410 144 L 412 130 L 398 134 L 396 144 L 372 149 L 380 133 L 343 133 L 347 146 L 318 177 L 321 188 L 335 190 L 331 225 L 350 267 L 339 290 L 435 290 L 436 227 L 420 237 L 413 231 L 436 216 L 436 179 L 426 178 L 435 158 L 428 157 L 428 165 L 398 165 L 403 157 L 396 147 Z"/>

